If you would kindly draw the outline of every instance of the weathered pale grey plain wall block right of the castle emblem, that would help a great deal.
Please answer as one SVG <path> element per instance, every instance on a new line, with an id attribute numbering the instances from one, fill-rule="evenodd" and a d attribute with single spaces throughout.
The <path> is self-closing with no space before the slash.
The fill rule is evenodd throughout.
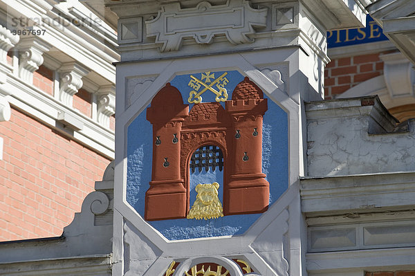
<path id="1" fill-rule="evenodd" d="M 392 132 L 396 120 L 374 98 L 306 104 L 308 176 L 344 176 L 415 170 L 414 121 Z"/>

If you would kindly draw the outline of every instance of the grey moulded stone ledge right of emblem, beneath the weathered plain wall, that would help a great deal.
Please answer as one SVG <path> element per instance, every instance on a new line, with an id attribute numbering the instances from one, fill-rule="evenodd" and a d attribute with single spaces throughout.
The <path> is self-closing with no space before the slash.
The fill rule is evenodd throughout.
<path id="1" fill-rule="evenodd" d="M 302 212 L 347 214 L 374 209 L 406 210 L 414 204 L 414 179 L 415 172 L 300 178 Z"/>

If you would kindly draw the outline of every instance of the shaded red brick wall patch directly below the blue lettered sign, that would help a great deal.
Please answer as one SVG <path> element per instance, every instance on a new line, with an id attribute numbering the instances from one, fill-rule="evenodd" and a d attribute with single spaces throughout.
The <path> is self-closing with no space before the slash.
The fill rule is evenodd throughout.
<path id="1" fill-rule="evenodd" d="M 326 100 L 341 94 L 351 87 L 383 74 L 383 62 L 379 55 L 390 53 L 374 53 L 332 59 L 324 71 L 324 89 Z"/>

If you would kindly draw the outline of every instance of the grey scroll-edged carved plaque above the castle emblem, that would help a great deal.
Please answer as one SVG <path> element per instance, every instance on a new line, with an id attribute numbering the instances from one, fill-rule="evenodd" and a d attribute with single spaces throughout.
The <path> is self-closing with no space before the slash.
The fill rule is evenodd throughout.
<path id="1" fill-rule="evenodd" d="M 195 8 L 181 8 L 180 3 L 162 5 L 155 19 L 145 21 L 147 37 L 163 43 L 161 52 L 178 50 L 182 39 L 193 37 L 199 44 L 209 44 L 215 35 L 225 35 L 232 44 L 253 42 L 248 37 L 254 27 L 266 26 L 267 8 L 251 8 L 249 1 L 228 0 L 212 6 L 203 1 Z"/>

